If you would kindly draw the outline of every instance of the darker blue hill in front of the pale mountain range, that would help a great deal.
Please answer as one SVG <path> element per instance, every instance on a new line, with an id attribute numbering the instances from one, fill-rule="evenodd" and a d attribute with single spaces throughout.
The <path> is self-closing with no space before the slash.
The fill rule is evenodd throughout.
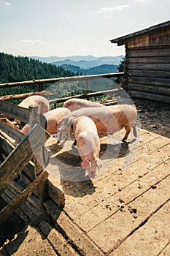
<path id="1" fill-rule="evenodd" d="M 63 64 L 62 67 L 69 69 L 77 75 L 97 75 L 104 73 L 117 72 L 117 65 L 104 64 L 97 67 L 90 67 L 90 69 L 82 69 L 78 66 Z"/>

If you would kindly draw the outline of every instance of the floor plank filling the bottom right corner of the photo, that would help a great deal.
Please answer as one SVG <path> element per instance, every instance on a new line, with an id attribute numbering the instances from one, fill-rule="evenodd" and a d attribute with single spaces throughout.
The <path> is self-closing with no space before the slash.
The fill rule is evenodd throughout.
<path id="1" fill-rule="evenodd" d="M 145 225 L 131 234 L 131 236 L 129 236 L 123 244 L 118 246 L 109 256 L 168 256 L 169 254 L 160 254 L 160 252 L 170 241 L 169 211 L 170 202 L 167 202 L 158 210 L 158 212 L 148 219 Z M 167 251 L 164 250 L 164 252 Z"/>

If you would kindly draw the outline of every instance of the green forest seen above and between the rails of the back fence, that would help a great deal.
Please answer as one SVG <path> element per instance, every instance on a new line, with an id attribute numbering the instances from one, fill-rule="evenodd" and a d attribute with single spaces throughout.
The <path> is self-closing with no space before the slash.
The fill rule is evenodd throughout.
<path id="1" fill-rule="evenodd" d="M 123 64 L 120 63 L 120 66 Z M 104 68 L 107 65 L 104 65 Z M 108 65 L 115 66 L 115 65 Z M 115 66 L 116 67 L 116 66 Z M 97 68 L 97 67 L 96 67 Z M 93 72 L 99 74 L 100 70 L 94 67 Z M 108 68 L 108 67 L 106 67 Z M 110 72 L 120 72 L 121 68 L 118 66 L 117 70 L 111 67 Z M 104 70 L 104 69 L 102 69 Z M 47 64 L 45 62 L 31 59 L 22 56 L 12 56 L 6 53 L 0 53 L 0 83 L 13 83 L 23 80 L 36 80 L 45 78 L 60 78 L 70 77 L 74 75 L 81 75 L 82 70 L 71 71 L 69 67 L 55 66 L 54 64 Z M 104 72 L 103 72 L 104 73 Z M 115 80 L 115 82 L 119 82 Z M 89 80 L 89 92 L 108 90 L 115 87 L 115 83 L 108 79 Z M 44 89 L 53 92 L 54 98 L 68 97 L 75 94 L 85 93 L 86 83 L 83 81 L 77 82 L 58 82 L 52 85 L 45 85 Z M 24 94 L 30 91 L 37 91 L 37 86 L 18 86 L 14 88 L 5 88 L 0 90 L 0 96 L 10 94 Z M 50 97 L 51 98 L 51 97 Z M 52 97 L 53 98 L 53 97 Z M 12 103 L 18 104 L 20 100 L 12 100 Z"/>

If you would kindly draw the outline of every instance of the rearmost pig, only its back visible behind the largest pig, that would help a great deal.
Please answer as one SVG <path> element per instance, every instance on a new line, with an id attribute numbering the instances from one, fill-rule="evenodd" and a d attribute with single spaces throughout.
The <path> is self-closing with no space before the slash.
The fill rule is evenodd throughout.
<path id="1" fill-rule="evenodd" d="M 78 110 L 80 108 L 93 108 L 93 107 L 103 107 L 98 102 L 90 102 L 86 99 L 78 99 L 78 98 L 72 98 L 66 100 L 66 102 L 63 103 L 63 108 L 69 108 L 70 111 Z"/>

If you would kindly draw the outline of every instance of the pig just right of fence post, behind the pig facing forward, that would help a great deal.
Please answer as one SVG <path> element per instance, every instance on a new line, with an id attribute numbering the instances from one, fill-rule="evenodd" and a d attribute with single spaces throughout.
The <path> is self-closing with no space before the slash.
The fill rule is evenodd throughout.
<path id="1" fill-rule="evenodd" d="M 43 116 L 45 116 L 45 118 L 43 121 L 45 120 L 47 121 L 47 127 L 46 127 L 47 132 L 49 132 L 50 135 L 57 133 L 58 121 L 61 118 L 63 118 L 63 116 L 66 116 L 69 113 L 71 113 L 71 111 L 67 108 L 55 108 L 53 110 L 50 110 L 44 113 Z M 40 116 L 40 124 L 42 125 L 42 127 L 45 127 L 45 125 L 42 124 L 41 121 L 42 121 L 42 118 Z M 30 125 L 26 124 L 25 127 L 21 129 L 21 132 L 23 132 L 23 134 L 26 135 L 29 129 L 30 129 Z"/>

